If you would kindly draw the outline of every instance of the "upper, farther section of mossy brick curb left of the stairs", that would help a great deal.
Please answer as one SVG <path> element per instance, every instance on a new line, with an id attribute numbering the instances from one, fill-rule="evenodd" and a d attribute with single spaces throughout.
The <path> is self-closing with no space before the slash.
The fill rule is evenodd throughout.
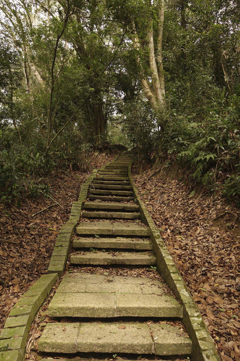
<path id="1" fill-rule="evenodd" d="M 64 273 L 70 251 L 71 239 L 80 218 L 82 205 L 87 199 L 89 184 L 96 178 L 97 173 L 98 169 L 94 169 L 91 176 L 87 178 L 85 183 L 82 183 L 78 201 L 72 204 L 69 221 L 61 227 L 56 239 L 53 254 L 47 269 L 48 274 L 57 273 L 58 276 L 61 277 Z"/>

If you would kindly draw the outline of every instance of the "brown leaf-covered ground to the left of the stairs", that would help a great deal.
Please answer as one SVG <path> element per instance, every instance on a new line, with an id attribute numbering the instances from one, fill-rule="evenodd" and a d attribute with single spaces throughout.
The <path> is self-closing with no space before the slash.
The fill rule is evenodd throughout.
<path id="1" fill-rule="evenodd" d="M 0 333 L 6 318 L 19 297 L 47 273 L 60 227 L 68 221 L 73 201 L 78 200 L 82 182 L 93 169 L 112 161 L 110 156 L 92 154 L 88 172 L 62 170 L 46 178 L 50 196 L 21 200 L 21 207 L 11 205 L 3 210 L 0 204 Z"/>

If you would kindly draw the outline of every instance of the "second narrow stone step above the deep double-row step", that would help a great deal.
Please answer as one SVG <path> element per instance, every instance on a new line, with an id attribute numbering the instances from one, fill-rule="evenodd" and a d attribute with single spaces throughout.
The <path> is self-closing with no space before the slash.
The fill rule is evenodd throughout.
<path id="1" fill-rule="evenodd" d="M 117 248 L 117 249 L 153 249 L 153 243 L 148 239 L 141 238 L 80 238 L 76 237 L 73 240 L 73 247 L 75 248 Z"/>

